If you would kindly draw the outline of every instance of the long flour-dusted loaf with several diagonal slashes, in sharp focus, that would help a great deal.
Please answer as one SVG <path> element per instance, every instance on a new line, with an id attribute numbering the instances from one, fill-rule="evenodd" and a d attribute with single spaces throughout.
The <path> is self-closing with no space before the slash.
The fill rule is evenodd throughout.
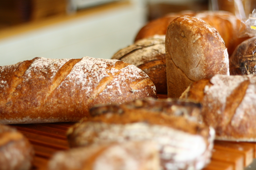
<path id="1" fill-rule="evenodd" d="M 0 95 L 1 124 L 79 121 L 95 104 L 157 97 L 141 69 L 90 57 L 2 66 Z"/>

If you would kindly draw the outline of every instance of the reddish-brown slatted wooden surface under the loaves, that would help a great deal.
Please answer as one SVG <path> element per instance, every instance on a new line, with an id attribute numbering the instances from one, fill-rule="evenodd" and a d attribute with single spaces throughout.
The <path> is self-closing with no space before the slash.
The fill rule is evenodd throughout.
<path id="1" fill-rule="evenodd" d="M 55 152 L 69 149 L 66 131 L 74 124 L 41 123 L 11 126 L 24 134 L 34 147 L 32 170 L 44 170 Z M 256 158 L 255 142 L 215 141 L 211 162 L 203 170 L 244 170 L 254 158 Z"/>

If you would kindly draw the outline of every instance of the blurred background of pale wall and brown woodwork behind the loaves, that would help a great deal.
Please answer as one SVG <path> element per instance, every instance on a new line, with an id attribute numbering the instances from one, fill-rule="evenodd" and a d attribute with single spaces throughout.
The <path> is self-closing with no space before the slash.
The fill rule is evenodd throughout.
<path id="1" fill-rule="evenodd" d="M 233 0 L 222 10 L 232 12 Z M 0 66 L 45 58 L 111 58 L 145 23 L 209 10 L 211 0 L 0 0 Z"/>

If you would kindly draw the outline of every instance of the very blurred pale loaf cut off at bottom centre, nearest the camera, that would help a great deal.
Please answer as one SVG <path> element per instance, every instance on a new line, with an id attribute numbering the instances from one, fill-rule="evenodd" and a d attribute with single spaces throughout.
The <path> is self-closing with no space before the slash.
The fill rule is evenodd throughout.
<path id="1" fill-rule="evenodd" d="M 160 170 L 159 153 L 151 141 L 72 148 L 53 155 L 49 170 Z"/>

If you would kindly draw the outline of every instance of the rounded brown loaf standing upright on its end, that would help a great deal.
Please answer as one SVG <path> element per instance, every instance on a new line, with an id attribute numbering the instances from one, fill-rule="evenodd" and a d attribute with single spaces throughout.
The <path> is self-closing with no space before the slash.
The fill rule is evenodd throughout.
<path id="1" fill-rule="evenodd" d="M 228 52 L 218 32 L 201 19 L 178 17 L 165 38 L 168 97 L 178 98 L 194 81 L 229 75 Z"/>

